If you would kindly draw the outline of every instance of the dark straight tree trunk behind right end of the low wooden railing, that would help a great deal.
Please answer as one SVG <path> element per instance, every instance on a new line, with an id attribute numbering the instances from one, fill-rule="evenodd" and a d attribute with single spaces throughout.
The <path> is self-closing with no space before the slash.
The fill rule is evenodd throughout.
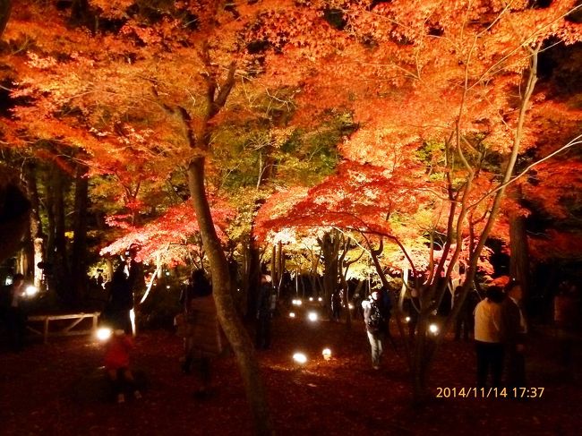
<path id="1" fill-rule="evenodd" d="M 77 168 L 74 197 L 73 258 L 71 273 L 74 300 L 79 303 L 87 291 L 87 209 L 89 206 L 89 179 L 83 177 L 86 168 Z"/>

